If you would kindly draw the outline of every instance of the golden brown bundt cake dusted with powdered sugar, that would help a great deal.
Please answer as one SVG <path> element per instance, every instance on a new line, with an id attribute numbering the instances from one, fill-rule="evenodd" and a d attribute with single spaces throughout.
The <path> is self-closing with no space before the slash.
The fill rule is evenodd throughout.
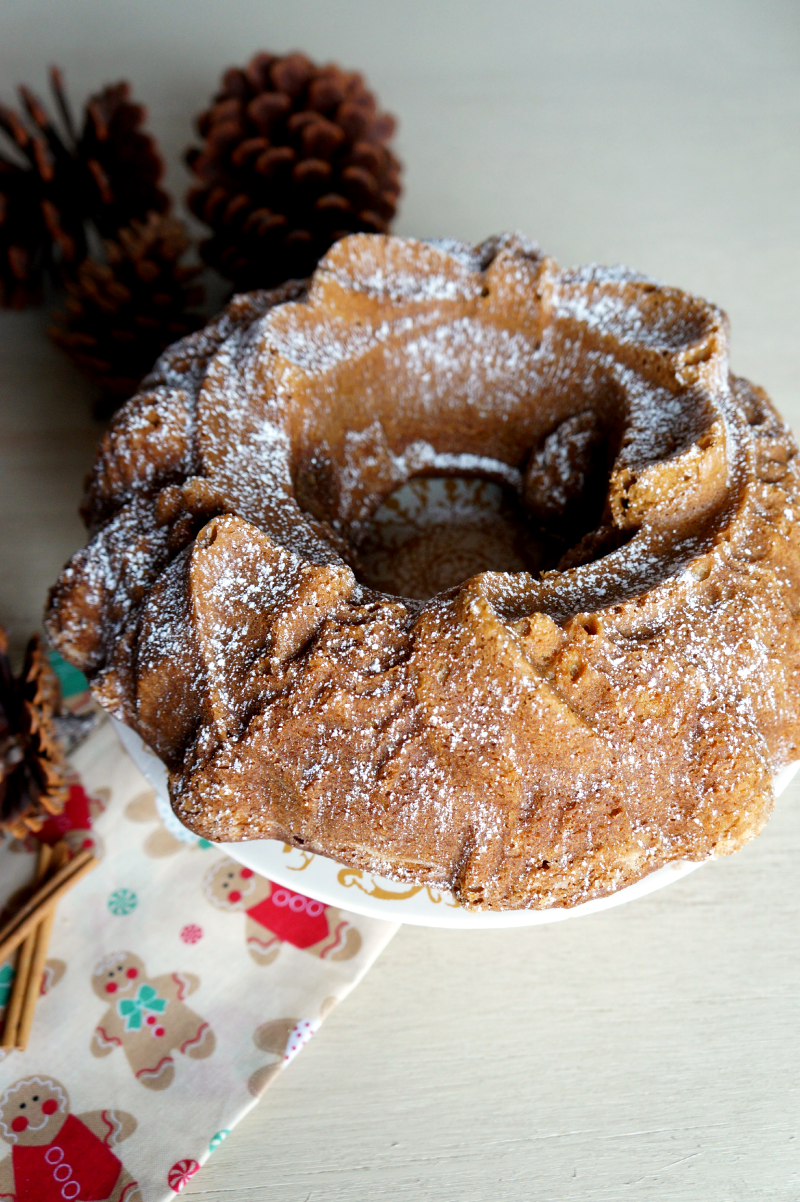
<path id="1" fill-rule="evenodd" d="M 375 593 L 359 542 L 425 472 L 498 480 L 574 545 Z M 569 906 L 765 822 L 799 756 L 796 505 L 718 309 L 519 237 L 353 236 L 156 364 L 48 625 L 198 834 Z"/>

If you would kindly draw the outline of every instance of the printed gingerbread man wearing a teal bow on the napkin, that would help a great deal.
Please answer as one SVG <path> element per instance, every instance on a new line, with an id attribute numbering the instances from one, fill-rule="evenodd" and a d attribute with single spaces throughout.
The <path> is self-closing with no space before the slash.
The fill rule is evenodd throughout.
<path id="1" fill-rule="evenodd" d="M 147 1089 L 168 1089 L 173 1053 L 204 1060 L 216 1047 L 214 1031 L 184 998 L 199 984 L 191 972 L 149 977 L 133 952 L 113 952 L 96 965 L 91 986 L 109 1006 L 91 1036 L 95 1057 L 121 1047 L 136 1079 Z"/>

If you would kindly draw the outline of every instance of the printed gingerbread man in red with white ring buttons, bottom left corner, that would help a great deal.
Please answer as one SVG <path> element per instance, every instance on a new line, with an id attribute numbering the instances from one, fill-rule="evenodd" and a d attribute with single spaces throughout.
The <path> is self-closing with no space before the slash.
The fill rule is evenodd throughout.
<path id="1" fill-rule="evenodd" d="M 114 1148 L 136 1131 L 125 1111 L 72 1114 L 52 1077 L 25 1077 L 0 1096 L 0 1198 L 13 1202 L 142 1202 Z"/>

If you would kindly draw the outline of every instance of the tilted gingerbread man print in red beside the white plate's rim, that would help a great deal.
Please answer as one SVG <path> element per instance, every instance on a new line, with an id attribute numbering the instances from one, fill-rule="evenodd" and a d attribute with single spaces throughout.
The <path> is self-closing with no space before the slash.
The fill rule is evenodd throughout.
<path id="1" fill-rule="evenodd" d="M 217 909 L 244 911 L 247 951 L 256 964 L 271 964 L 283 944 L 330 960 L 348 960 L 362 946 L 340 910 L 274 885 L 227 856 L 211 864 L 203 885 Z"/>

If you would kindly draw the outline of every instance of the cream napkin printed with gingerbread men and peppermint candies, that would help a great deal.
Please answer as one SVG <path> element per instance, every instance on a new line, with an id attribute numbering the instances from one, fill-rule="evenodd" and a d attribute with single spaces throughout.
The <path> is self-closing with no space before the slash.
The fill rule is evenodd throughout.
<path id="1" fill-rule="evenodd" d="M 196 839 L 102 721 L 41 832 L 100 867 L 61 902 L 30 1043 L 0 1053 L 0 1198 L 174 1197 L 396 926 L 273 885 Z M 0 908 L 37 843 L 0 844 Z M 0 966 L 0 1014 L 13 963 Z M 5 1153 L 5 1156 L 4 1156 Z"/>

